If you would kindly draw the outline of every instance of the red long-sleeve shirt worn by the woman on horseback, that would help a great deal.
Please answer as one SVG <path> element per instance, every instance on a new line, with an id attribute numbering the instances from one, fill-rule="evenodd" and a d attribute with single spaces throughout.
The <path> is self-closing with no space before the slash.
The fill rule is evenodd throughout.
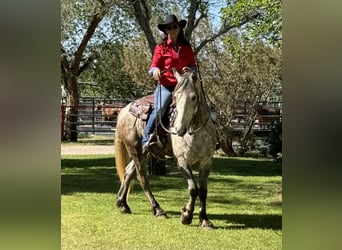
<path id="1" fill-rule="evenodd" d="M 194 52 L 190 45 L 178 45 L 178 52 L 173 48 L 171 39 L 166 44 L 158 44 L 154 49 L 150 72 L 158 67 L 161 72 L 160 84 L 164 86 L 175 86 L 176 78 L 173 76 L 172 68 L 182 73 L 183 67 L 196 69 Z"/>

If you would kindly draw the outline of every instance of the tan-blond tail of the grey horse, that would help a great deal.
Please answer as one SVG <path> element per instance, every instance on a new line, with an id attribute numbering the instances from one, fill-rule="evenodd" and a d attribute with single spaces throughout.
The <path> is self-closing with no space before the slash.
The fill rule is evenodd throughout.
<path id="1" fill-rule="evenodd" d="M 116 131 L 117 133 L 117 131 Z M 128 151 L 126 149 L 125 144 L 123 141 L 115 134 L 115 165 L 116 165 L 116 172 L 120 178 L 121 183 L 124 180 L 125 176 L 125 168 L 130 161 L 130 157 L 128 155 Z"/>

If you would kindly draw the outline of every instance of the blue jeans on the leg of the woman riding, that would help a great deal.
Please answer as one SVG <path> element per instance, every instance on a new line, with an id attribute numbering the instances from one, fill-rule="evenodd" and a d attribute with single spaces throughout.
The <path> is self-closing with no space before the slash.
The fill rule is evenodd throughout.
<path id="1" fill-rule="evenodd" d="M 145 127 L 142 145 L 148 141 L 150 134 L 152 134 L 156 128 L 156 120 L 159 119 L 159 115 L 161 115 L 161 117 L 165 115 L 168 106 L 171 104 L 172 91 L 174 88 L 174 86 L 165 87 L 160 84 L 157 85 L 157 88 L 154 91 L 154 108 Z"/>

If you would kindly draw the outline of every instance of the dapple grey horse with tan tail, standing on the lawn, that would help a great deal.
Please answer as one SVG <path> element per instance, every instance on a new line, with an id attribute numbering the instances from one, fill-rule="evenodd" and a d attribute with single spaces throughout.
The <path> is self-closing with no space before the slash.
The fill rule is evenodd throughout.
<path id="1" fill-rule="evenodd" d="M 177 85 L 173 91 L 176 117 L 173 126 L 167 130 L 166 154 L 173 155 L 177 166 L 187 180 L 190 198 L 181 209 L 181 222 L 192 223 L 195 200 L 200 200 L 199 225 L 202 228 L 213 228 L 206 212 L 207 182 L 216 150 L 217 136 L 215 125 L 210 116 L 204 90 L 198 82 L 196 73 L 186 72 L 183 75 L 173 69 Z M 115 161 L 121 186 L 118 191 L 116 206 L 121 213 L 131 213 L 127 204 L 129 185 L 137 177 L 142 190 L 150 201 L 153 214 L 157 218 L 167 218 L 166 212 L 154 198 L 146 176 L 145 163 L 148 155 L 142 151 L 142 120 L 124 107 L 119 115 L 115 133 Z M 165 128 L 165 127 L 164 127 Z M 192 173 L 193 167 L 199 171 L 198 185 Z"/>

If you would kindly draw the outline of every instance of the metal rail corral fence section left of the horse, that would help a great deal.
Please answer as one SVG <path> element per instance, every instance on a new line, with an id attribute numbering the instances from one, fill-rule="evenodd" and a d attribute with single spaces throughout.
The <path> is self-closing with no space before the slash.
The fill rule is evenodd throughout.
<path id="1" fill-rule="evenodd" d="M 81 97 L 78 106 L 77 121 L 70 122 L 66 119 L 66 112 L 70 107 L 66 105 L 66 100 L 62 99 L 62 138 L 65 136 L 65 127 L 71 125 L 71 123 L 76 124 L 78 134 L 114 134 L 119 111 L 131 101 L 130 99 Z"/>

